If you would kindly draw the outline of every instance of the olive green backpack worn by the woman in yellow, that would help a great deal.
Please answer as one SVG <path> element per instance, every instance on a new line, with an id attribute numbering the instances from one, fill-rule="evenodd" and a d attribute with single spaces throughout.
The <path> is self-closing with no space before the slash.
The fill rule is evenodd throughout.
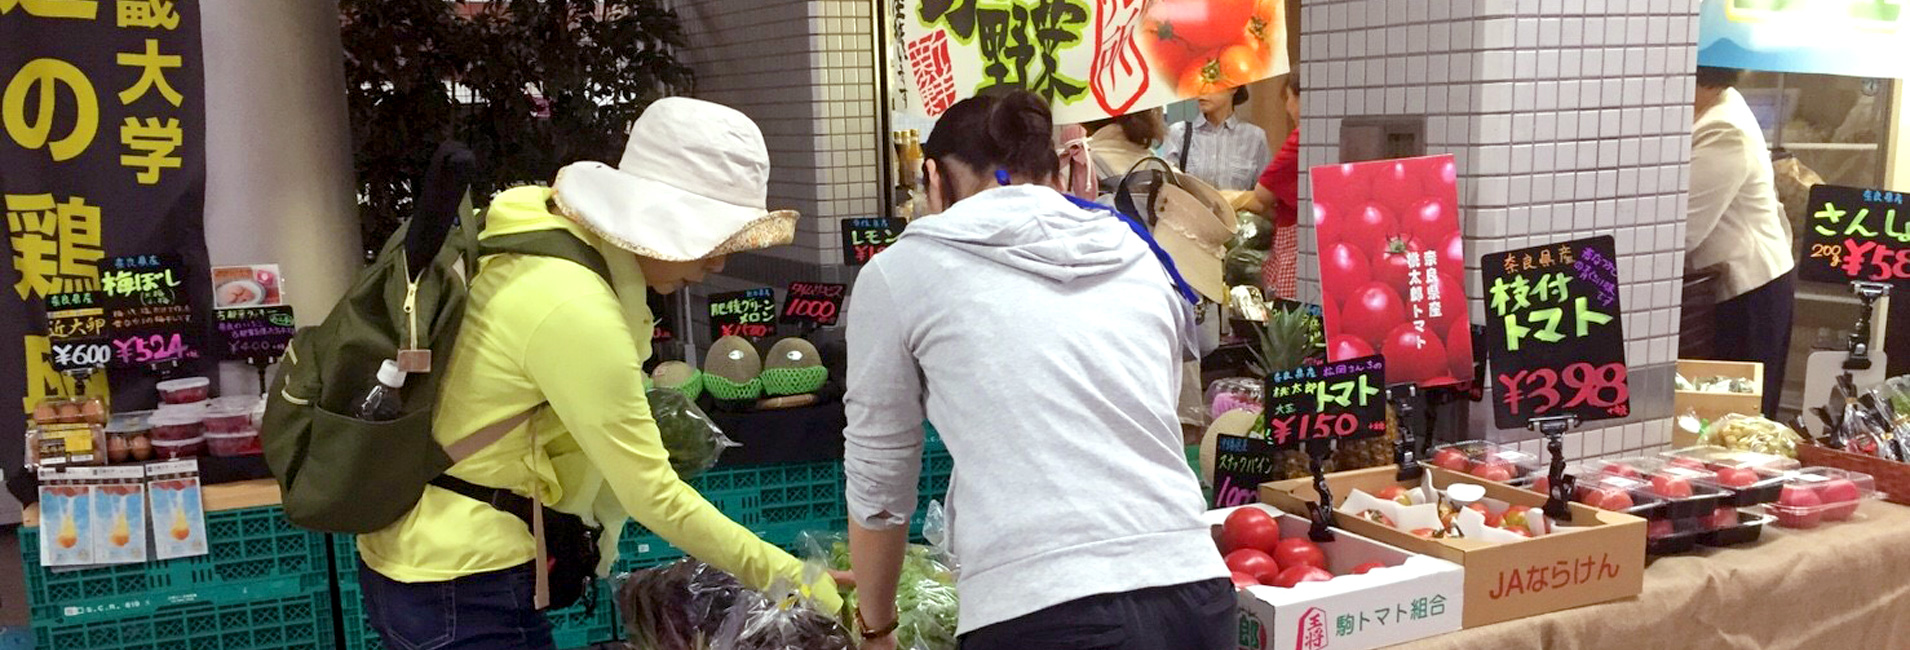
<path id="1" fill-rule="evenodd" d="M 468 203 L 456 214 L 472 216 Z M 479 243 L 479 229 L 478 218 L 451 226 L 416 279 L 399 229 L 330 315 L 292 336 L 260 426 L 265 465 L 279 480 L 292 524 L 329 533 L 378 531 L 411 512 L 424 486 L 455 459 L 483 449 L 529 417 L 487 426 L 449 449 L 432 438 L 432 411 L 464 321 L 468 273 L 476 273 L 479 256 L 500 252 L 577 262 L 605 279 L 609 270 L 596 249 L 567 231 Z M 403 415 L 384 422 L 353 419 L 378 365 L 395 359 L 401 348 L 428 350 L 432 359 L 430 371 L 405 379 Z"/>

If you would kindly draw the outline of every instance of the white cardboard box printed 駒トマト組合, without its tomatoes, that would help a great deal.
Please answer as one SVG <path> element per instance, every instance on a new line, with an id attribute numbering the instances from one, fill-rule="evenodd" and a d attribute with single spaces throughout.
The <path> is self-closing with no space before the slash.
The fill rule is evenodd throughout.
<path id="1" fill-rule="evenodd" d="M 1306 537 L 1306 520 L 1263 509 L 1280 520 L 1280 539 Z M 1220 526 L 1238 509 L 1209 510 Z M 1240 650 L 1369 650 L 1457 631 L 1465 610 L 1463 570 L 1440 558 L 1406 552 L 1335 530 L 1320 543 L 1333 579 L 1293 587 L 1247 587 L 1240 598 Z M 1366 574 L 1354 566 L 1379 562 Z"/>

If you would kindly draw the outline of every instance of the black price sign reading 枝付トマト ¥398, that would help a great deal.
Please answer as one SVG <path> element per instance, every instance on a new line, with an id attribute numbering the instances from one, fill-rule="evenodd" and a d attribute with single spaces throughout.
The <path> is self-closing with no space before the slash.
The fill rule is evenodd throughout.
<path id="1" fill-rule="evenodd" d="M 1486 352 L 1499 428 L 1631 413 L 1610 235 L 1484 256 Z"/>

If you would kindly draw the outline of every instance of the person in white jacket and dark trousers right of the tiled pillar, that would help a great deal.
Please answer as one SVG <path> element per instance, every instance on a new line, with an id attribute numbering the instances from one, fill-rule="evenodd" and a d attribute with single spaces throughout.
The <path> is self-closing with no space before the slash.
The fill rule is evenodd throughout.
<path id="1" fill-rule="evenodd" d="M 1757 115 L 1732 88 L 1738 71 L 1698 67 L 1690 132 L 1685 268 L 1713 273 L 1713 354 L 1765 363 L 1765 415 L 1778 417 L 1797 281 L 1792 237 Z"/>

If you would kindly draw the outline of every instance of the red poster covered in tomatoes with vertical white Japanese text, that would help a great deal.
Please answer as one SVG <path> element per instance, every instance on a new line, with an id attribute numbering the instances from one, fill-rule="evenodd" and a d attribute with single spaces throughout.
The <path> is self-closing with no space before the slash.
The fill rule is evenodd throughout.
<path id="1" fill-rule="evenodd" d="M 1329 361 L 1387 358 L 1387 384 L 1473 380 L 1452 155 L 1316 166 Z"/>

